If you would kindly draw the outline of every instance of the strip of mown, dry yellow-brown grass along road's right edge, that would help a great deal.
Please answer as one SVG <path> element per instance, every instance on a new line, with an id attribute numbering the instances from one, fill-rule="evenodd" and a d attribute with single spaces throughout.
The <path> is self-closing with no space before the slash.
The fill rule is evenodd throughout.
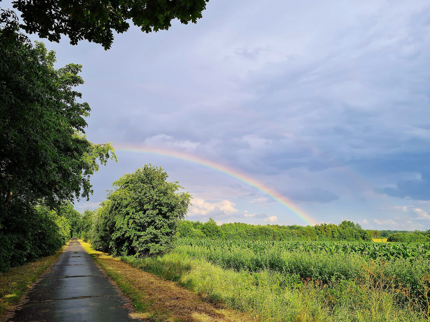
<path id="1" fill-rule="evenodd" d="M 244 313 L 226 309 L 221 303 L 209 303 L 177 283 L 130 266 L 81 242 L 87 252 L 131 298 L 135 316 L 148 321 L 172 322 L 245 322 L 253 319 Z"/>

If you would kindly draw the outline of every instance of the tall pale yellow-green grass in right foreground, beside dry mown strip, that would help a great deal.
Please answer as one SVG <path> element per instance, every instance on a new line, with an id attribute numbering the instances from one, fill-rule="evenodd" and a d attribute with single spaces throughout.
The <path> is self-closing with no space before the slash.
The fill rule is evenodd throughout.
<path id="1" fill-rule="evenodd" d="M 180 250 L 156 258 L 122 259 L 259 321 L 428 321 L 412 301 L 400 304 L 397 298 L 403 290 L 387 287 L 389 280 L 373 271 L 360 281 L 320 283 L 268 269 L 224 269 Z"/>

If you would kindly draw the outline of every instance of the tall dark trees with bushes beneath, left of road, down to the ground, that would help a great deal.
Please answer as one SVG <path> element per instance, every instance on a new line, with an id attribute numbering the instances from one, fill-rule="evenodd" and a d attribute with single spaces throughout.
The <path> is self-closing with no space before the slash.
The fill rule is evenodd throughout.
<path id="1" fill-rule="evenodd" d="M 82 66 L 57 70 L 54 62 L 0 9 L 0 270 L 63 245 L 80 222 L 70 202 L 88 200 L 90 176 L 116 160 L 111 143 L 84 134 L 90 109 L 73 89 L 83 84 Z"/>

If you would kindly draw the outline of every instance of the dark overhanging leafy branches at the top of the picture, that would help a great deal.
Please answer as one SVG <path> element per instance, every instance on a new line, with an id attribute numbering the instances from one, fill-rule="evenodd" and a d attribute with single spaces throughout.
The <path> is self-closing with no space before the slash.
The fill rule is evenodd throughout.
<path id="1" fill-rule="evenodd" d="M 197 23 L 209 0 L 15 0 L 13 7 L 22 12 L 27 33 L 59 42 L 61 34 L 76 45 L 79 40 L 111 47 L 113 30 L 123 33 L 129 29 L 128 20 L 142 31 L 150 33 L 167 30 L 172 19 L 182 24 Z"/>

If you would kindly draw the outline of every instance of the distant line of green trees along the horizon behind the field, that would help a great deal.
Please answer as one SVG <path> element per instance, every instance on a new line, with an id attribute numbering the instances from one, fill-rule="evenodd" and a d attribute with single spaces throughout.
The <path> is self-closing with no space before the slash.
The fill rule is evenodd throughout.
<path id="1" fill-rule="evenodd" d="M 179 237 L 246 239 L 246 240 L 310 240 L 310 241 L 372 241 L 387 238 L 401 243 L 430 242 L 430 231 L 377 231 L 364 230 L 359 224 L 344 220 L 339 225 L 250 225 L 241 222 L 218 226 L 210 218 L 207 222 L 182 220 L 178 227 Z"/>

